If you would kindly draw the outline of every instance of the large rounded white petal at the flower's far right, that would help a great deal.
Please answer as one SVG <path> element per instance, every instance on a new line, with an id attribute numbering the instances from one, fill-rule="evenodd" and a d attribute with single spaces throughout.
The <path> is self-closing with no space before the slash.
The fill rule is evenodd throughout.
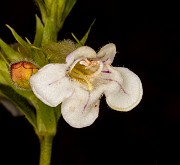
<path id="1" fill-rule="evenodd" d="M 114 110 L 129 111 L 139 104 L 143 89 L 139 77 L 127 68 L 109 67 L 112 74 L 121 75 L 123 81 L 113 79 L 105 90 L 107 104 Z"/>

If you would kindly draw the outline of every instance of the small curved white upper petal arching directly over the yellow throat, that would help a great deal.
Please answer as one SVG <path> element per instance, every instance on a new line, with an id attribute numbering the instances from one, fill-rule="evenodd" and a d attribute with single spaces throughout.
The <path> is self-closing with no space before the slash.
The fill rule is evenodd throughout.
<path id="1" fill-rule="evenodd" d="M 70 66 L 76 59 L 81 57 L 96 58 L 96 52 L 88 46 L 81 46 L 66 57 L 66 63 Z"/>

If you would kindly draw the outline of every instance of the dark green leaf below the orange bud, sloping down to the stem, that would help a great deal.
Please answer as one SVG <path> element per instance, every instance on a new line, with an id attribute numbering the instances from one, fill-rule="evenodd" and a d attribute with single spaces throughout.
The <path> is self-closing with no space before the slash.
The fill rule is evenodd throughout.
<path id="1" fill-rule="evenodd" d="M 26 98 L 19 95 L 13 88 L 3 84 L 0 84 L 0 92 L 17 106 L 34 128 L 37 128 L 35 109 Z"/>

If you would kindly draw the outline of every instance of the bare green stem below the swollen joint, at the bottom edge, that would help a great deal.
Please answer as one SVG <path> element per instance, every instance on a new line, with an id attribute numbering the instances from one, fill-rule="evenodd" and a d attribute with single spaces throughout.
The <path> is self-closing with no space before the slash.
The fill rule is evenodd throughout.
<path id="1" fill-rule="evenodd" d="M 39 165 L 51 164 L 51 152 L 53 144 L 53 136 L 41 136 L 40 140 L 40 160 Z"/>

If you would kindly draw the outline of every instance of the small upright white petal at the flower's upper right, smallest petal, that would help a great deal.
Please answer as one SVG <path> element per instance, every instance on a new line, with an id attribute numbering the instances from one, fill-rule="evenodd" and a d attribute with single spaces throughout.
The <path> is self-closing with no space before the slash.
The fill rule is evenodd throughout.
<path id="1" fill-rule="evenodd" d="M 116 54 L 116 46 L 113 43 L 109 43 L 103 46 L 97 54 L 98 58 L 101 58 L 101 61 L 104 64 L 111 64 L 114 60 Z"/>

